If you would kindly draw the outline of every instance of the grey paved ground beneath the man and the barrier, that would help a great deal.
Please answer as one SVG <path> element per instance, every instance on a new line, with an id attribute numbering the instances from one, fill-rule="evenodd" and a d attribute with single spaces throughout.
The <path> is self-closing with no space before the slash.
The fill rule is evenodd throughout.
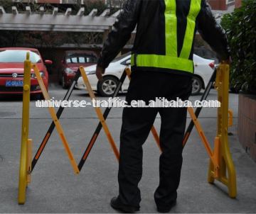
<path id="1" fill-rule="evenodd" d="M 65 91 L 51 86 L 50 95 L 62 98 Z M 121 96 L 124 98 L 124 95 Z M 90 99 L 84 91 L 75 90 L 73 99 Z M 191 99 L 199 98 L 193 96 Z M 216 98 L 216 91 L 210 92 Z M 25 205 L 17 204 L 18 167 L 21 138 L 21 99 L 1 99 L 0 102 L 0 213 L 114 213 L 109 201 L 117 195 L 117 161 L 102 132 L 80 175 L 73 174 L 68 157 L 57 133 L 53 133 L 33 171 L 33 181 L 27 191 Z M 198 134 L 194 131 L 183 152 L 181 186 L 173 213 L 256 213 L 256 163 L 247 156 L 238 142 L 238 95 L 230 94 L 234 111 L 234 126 L 230 128 L 230 148 L 238 174 L 238 197 L 230 199 L 227 188 L 218 182 L 206 181 L 208 157 Z M 114 109 L 107 122 L 114 139 L 119 142 L 122 109 Z M 189 119 L 189 118 L 188 118 Z M 98 123 L 95 111 L 88 108 L 65 109 L 60 120 L 70 142 L 75 159 L 80 160 L 87 142 Z M 216 130 L 216 110 L 204 109 L 200 117 L 208 138 L 213 141 Z M 47 109 L 31 102 L 30 137 L 35 153 L 50 125 Z M 160 119 L 155 125 L 159 129 Z M 159 182 L 159 150 L 151 135 L 144 145 L 144 176 L 141 213 L 155 213 L 153 193 Z"/>

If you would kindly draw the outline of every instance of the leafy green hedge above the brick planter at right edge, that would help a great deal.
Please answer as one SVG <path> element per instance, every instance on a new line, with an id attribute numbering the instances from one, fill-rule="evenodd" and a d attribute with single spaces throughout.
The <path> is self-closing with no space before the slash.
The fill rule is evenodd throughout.
<path id="1" fill-rule="evenodd" d="M 233 60 L 230 86 L 256 94 L 256 1 L 244 0 L 242 7 L 223 16 Z"/>

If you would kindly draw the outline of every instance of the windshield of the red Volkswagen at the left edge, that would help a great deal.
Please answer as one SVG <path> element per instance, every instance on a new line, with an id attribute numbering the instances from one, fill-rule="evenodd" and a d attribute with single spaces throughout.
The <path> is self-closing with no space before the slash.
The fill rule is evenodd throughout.
<path id="1" fill-rule="evenodd" d="M 27 52 L 30 53 L 32 63 L 41 62 L 39 53 L 31 50 L 0 50 L 0 62 L 24 62 Z"/>

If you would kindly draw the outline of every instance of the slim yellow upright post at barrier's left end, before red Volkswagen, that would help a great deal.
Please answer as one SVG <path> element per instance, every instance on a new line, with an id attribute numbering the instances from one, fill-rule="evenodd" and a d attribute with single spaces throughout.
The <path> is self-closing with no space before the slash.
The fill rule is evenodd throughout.
<path id="1" fill-rule="evenodd" d="M 27 186 L 27 162 L 28 162 L 28 128 L 29 128 L 29 104 L 31 89 L 31 61 L 27 53 L 24 62 L 23 78 L 23 108 L 22 108 L 22 127 L 21 127 L 21 159 L 18 179 L 18 203 L 24 204 L 26 201 Z"/>

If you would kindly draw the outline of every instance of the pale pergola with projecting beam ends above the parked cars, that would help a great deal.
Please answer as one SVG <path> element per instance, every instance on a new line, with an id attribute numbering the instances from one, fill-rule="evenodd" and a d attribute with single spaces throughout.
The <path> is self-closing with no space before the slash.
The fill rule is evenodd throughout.
<path id="1" fill-rule="evenodd" d="M 0 30 L 108 32 L 120 11 L 110 14 L 110 9 L 106 9 L 97 16 L 97 9 L 85 14 L 85 8 L 81 7 L 73 15 L 71 8 L 66 9 L 65 13 L 59 13 L 55 7 L 52 13 L 46 13 L 43 6 L 36 12 L 31 11 L 30 6 L 26 6 L 26 11 L 18 11 L 16 6 L 12 6 L 11 13 L 6 13 L 4 7 L 0 6 Z M 220 22 L 223 14 L 230 11 L 213 12 Z"/>

